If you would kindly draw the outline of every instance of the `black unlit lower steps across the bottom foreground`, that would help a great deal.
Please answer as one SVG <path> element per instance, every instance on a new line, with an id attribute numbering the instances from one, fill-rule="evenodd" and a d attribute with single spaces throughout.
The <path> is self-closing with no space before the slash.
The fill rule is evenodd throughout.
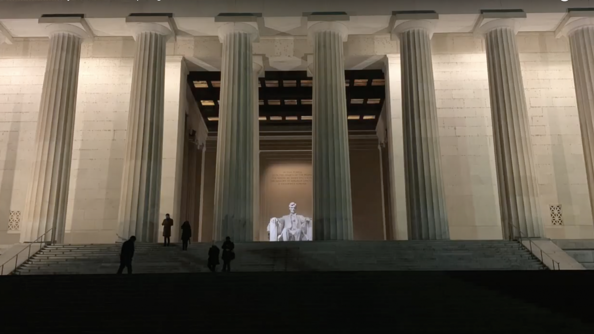
<path id="1" fill-rule="evenodd" d="M 594 333 L 592 271 L 0 276 L 3 333 Z"/>

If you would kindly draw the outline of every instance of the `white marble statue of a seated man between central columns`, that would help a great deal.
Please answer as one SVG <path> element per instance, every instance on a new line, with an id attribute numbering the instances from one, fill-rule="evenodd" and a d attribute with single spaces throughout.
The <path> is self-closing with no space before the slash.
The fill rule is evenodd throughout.
<path id="1" fill-rule="evenodd" d="M 289 215 L 271 218 L 266 231 L 270 241 L 309 241 L 312 240 L 311 218 L 295 213 L 297 204 L 289 204 Z"/>

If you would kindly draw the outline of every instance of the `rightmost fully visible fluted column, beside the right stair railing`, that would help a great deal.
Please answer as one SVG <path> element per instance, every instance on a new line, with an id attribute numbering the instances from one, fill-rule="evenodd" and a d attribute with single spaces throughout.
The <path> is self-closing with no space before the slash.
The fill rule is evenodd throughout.
<path id="1" fill-rule="evenodd" d="M 481 27 L 489 75 L 501 224 L 504 237 L 518 237 L 520 231 L 522 237 L 542 237 L 516 32 L 516 21 L 512 19 L 490 21 Z"/>

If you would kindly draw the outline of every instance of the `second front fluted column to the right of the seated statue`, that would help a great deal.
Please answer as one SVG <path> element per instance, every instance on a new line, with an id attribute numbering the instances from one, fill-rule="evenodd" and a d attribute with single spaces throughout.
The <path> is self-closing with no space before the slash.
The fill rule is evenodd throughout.
<path id="1" fill-rule="evenodd" d="M 450 238 L 441 172 L 430 21 L 399 24 L 406 212 L 412 240 Z"/>

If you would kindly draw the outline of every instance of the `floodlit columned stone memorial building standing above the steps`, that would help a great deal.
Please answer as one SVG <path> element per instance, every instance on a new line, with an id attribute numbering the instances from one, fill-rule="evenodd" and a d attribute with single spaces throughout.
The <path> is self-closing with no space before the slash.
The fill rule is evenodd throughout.
<path id="1" fill-rule="evenodd" d="M 0 245 L 594 239 L 594 8 L 503 3 L 0 1 Z"/>

